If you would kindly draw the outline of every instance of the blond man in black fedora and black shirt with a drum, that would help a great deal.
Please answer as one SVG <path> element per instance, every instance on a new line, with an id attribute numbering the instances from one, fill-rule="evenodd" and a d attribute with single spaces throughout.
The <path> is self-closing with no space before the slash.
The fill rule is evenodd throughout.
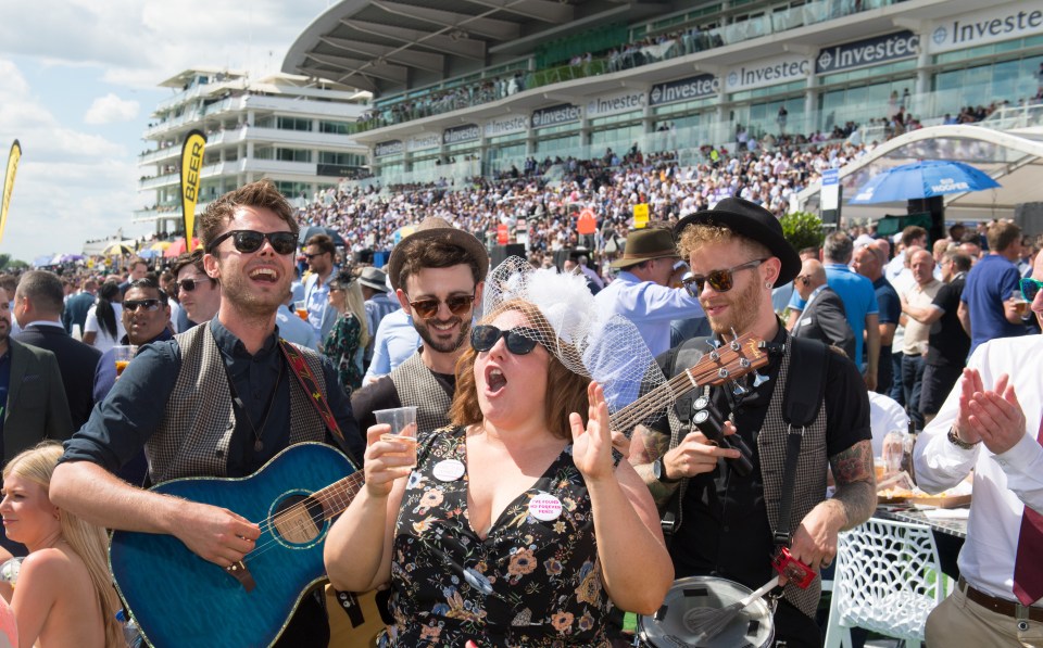
<path id="1" fill-rule="evenodd" d="M 709 408 L 726 421 L 725 434 L 737 434 L 750 448 L 745 470 L 739 450 L 689 429 L 691 398 L 682 399 L 687 408 L 671 409 L 669 423 L 662 419 L 633 437 L 630 460 L 673 520 L 676 574 L 756 588 L 775 574 L 771 557 L 787 545 L 817 572 L 832 562 L 838 533 L 860 524 L 876 506 L 865 383 L 850 359 L 819 341 L 794 342 L 776 316 L 771 289 L 793 280 L 801 261 L 771 213 L 728 198 L 682 218 L 676 231 L 691 265 L 686 288 L 702 303 L 714 338 L 727 343 L 751 333 L 767 342 L 769 355 L 766 367 L 738 384 L 695 392 L 707 395 Z M 706 342 L 694 345 L 705 351 Z M 687 344 L 659 357 L 667 376 L 698 360 Z M 807 397 L 807 383 L 818 384 L 815 394 L 821 396 Z M 814 403 L 817 411 L 789 409 L 794 403 Z M 787 471 L 787 447 L 795 439 L 786 421 L 797 419 L 794 412 L 810 422 L 797 425 L 796 469 Z M 837 484 L 830 499 L 827 461 Z M 786 586 L 775 614 L 777 639 L 791 648 L 821 645 L 814 620 L 819 595 L 817 576 L 807 589 Z"/>

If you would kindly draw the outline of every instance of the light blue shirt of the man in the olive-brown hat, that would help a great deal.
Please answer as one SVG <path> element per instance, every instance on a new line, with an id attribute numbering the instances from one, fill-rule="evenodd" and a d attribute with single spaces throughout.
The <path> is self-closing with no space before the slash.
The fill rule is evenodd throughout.
<path id="1" fill-rule="evenodd" d="M 670 320 L 705 316 L 683 288 L 642 281 L 626 270 L 594 295 L 594 304 L 606 316 L 616 313 L 632 321 L 653 356 L 670 348 Z"/>

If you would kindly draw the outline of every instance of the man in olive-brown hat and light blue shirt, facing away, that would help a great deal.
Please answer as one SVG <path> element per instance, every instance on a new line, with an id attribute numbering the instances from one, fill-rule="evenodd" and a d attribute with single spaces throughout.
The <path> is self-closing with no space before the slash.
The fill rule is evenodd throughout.
<path id="1" fill-rule="evenodd" d="M 604 315 L 618 314 L 641 331 L 652 355 L 670 347 L 670 321 L 701 317 L 699 300 L 670 288 L 688 270 L 677 252 L 674 234 L 665 228 L 639 229 L 627 237 L 615 280 L 599 292 L 594 303 Z"/>

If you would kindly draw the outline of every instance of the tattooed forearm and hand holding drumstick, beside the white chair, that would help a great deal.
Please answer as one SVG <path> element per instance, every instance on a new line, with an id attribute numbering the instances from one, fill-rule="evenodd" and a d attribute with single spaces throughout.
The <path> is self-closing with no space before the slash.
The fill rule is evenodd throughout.
<path id="1" fill-rule="evenodd" d="M 812 509 L 793 533 L 793 555 L 818 570 L 837 555 L 837 535 L 862 524 L 877 506 L 872 445 L 859 441 L 830 457 L 837 494 Z"/>

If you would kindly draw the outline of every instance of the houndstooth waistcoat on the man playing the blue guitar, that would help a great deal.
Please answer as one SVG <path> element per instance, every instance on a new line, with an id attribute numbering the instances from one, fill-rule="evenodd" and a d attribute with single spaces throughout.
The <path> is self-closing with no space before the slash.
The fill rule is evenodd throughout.
<path id="1" fill-rule="evenodd" d="M 221 350 L 209 325 L 193 327 L 174 339 L 181 352 L 181 369 L 160 428 L 144 445 L 149 474 L 153 484 L 184 477 L 225 477 L 236 415 Z M 297 348 L 326 394 L 318 354 Z M 284 371 L 290 383 L 290 444 L 324 441 L 323 419 L 289 366 Z"/>

